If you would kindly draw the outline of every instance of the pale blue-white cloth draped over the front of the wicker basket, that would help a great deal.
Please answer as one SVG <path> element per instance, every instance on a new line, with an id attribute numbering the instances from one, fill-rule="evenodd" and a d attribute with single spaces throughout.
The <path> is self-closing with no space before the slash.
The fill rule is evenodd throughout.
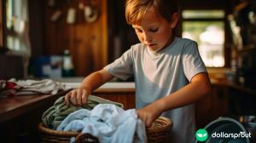
<path id="1" fill-rule="evenodd" d="M 110 104 L 99 104 L 91 111 L 73 112 L 57 130 L 89 133 L 103 143 L 147 142 L 144 123 L 137 118 L 136 110 L 124 111 Z"/>

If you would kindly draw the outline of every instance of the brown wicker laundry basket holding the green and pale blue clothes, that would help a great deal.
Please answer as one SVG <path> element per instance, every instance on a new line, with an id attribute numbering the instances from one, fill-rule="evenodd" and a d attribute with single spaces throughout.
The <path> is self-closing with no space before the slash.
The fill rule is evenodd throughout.
<path id="1" fill-rule="evenodd" d="M 77 143 L 97 143 L 96 137 L 90 134 L 80 134 L 79 132 L 56 131 L 47 129 L 43 123 L 38 124 L 41 133 L 42 142 L 59 142 L 68 143 L 71 137 L 76 137 Z M 170 132 L 172 129 L 172 121 L 167 117 L 158 117 L 150 128 L 146 129 L 148 143 L 167 143 L 170 142 Z"/>

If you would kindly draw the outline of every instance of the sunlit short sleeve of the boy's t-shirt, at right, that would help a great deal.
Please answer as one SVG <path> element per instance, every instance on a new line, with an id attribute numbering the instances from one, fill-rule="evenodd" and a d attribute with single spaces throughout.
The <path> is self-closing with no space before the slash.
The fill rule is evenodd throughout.
<path id="1" fill-rule="evenodd" d="M 185 45 L 183 49 L 183 71 L 189 82 L 196 74 L 207 72 L 207 68 L 199 54 L 197 43 L 194 41 Z"/>

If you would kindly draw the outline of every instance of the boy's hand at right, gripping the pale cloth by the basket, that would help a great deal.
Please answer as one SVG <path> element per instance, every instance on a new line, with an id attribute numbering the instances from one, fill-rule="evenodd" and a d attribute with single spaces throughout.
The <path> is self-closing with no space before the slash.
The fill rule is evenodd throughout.
<path id="1" fill-rule="evenodd" d="M 159 117 L 160 114 L 161 110 L 156 106 L 155 102 L 137 110 L 137 117 L 140 118 L 147 127 L 150 127 L 154 122 L 154 119 Z"/>

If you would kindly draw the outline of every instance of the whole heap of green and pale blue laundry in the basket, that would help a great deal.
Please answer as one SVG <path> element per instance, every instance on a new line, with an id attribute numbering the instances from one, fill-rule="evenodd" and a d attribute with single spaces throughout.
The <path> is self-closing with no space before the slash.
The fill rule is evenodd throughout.
<path id="1" fill-rule="evenodd" d="M 137 118 L 136 110 L 125 111 L 122 107 L 120 103 L 93 95 L 88 96 L 83 106 L 67 106 L 64 97 L 60 97 L 44 112 L 42 120 L 49 129 L 91 134 L 99 142 L 147 142 L 145 125 Z"/>

